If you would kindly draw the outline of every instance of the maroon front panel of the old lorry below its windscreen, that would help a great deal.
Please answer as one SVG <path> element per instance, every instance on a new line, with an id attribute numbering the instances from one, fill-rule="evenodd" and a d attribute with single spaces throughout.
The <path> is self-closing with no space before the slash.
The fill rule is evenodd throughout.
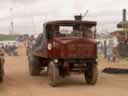
<path id="1" fill-rule="evenodd" d="M 54 39 L 54 48 L 48 51 L 51 58 L 96 58 L 96 42 L 85 38 Z"/>

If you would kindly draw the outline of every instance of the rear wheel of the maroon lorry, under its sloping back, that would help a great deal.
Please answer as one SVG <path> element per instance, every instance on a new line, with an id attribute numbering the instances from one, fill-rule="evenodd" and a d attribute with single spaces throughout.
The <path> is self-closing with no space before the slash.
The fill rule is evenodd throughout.
<path id="1" fill-rule="evenodd" d="M 36 56 L 29 56 L 29 73 L 31 76 L 39 76 L 40 75 L 40 65 L 39 59 Z"/>

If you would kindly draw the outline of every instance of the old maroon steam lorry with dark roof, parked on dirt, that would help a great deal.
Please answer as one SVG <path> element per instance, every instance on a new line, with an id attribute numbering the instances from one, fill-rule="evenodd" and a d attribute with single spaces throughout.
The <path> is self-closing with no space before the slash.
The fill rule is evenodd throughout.
<path id="1" fill-rule="evenodd" d="M 48 67 L 49 85 L 72 72 L 83 73 L 87 84 L 97 81 L 96 22 L 60 20 L 46 22 L 28 55 L 29 72 L 40 75 Z"/>

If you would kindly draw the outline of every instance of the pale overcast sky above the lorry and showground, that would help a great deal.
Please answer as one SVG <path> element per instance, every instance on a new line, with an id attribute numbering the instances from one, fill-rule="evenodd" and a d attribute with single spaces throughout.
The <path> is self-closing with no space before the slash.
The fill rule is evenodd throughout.
<path id="1" fill-rule="evenodd" d="M 73 19 L 86 10 L 84 19 L 96 20 L 98 32 L 110 32 L 116 30 L 127 4 L 127 0 L 0 0 L 0 33 L 9 33 L 12 19 L 15 32 L 34 33 L 42 32 L 45 21 Z"/>

